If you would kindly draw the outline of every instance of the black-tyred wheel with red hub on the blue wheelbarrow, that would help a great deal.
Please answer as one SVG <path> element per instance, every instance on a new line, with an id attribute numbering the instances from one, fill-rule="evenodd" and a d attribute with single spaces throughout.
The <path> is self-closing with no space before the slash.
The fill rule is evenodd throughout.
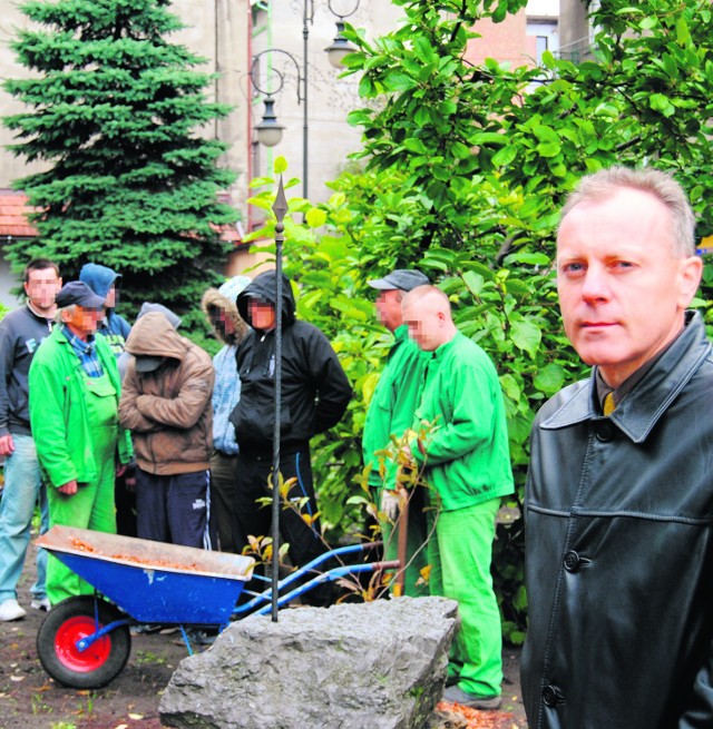
<path id="1" fill-rule="evenodd" d="M 62 686 L 74 689 L 96 689 L 116 678 L 126 666 L 131 651 L 127 624 L 96 640 L 86 650 L 77 641 L 92 636 L 99 628 L 125 615 L 117 608 L 90 595 L 68 598 L 55 605 L 37 633 L 37 652 L 45 670 Z"/>

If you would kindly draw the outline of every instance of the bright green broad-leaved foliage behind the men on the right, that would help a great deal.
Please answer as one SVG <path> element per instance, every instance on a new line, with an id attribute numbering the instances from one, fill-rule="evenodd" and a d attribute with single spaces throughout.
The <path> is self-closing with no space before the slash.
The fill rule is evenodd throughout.
<path id="1" fill-rule="evenodd" d="M 504 629 L 522 639 L 522 521 L 517 516 L 528 434 L 539 406 L 587 373 L 560 326 L 553 256 L 558 210 L 575 181 L 614 162 L 655 164 L 687 189 L 699 233 L 713 233 L 713 13 L 707 0 L 611 0 L 593 13 L 595 60 L 545 53 L 539 68 L 465 60 L 477 21 L 502 20 L 525 3 L 394 0 L 402 27 L 358 47 L 364 108 L 355 164 L 311 213 L 322 221 L 286 228 L 286 269 L 301 288 L 300 313 L 340 352 L 356 397 L 350 416 L 315 449 L 321 505 L 330 525 L 358 531 L 360 434 L 390 337 L 374 325 L 365 284 L 395 266 L 417 266 L 448 293 L 459 328 L 496 363 L 506 401 L 518 493 L 515 519 L 498 525 L 497 592 Z M 476 27 L 473 31 L 473 26 Z M 363 164 L 364 168 L 358 165 Z M 262 207 L 270 207 L 270 193 Z M 713 267 L 701 298 L 709 328 Z M 359 479 L 356 479 L 359 481 Z"/>

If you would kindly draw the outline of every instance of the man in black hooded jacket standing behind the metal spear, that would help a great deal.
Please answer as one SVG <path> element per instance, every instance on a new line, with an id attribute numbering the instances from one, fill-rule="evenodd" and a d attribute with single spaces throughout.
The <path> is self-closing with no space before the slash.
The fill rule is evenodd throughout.
<path id="1" fill-rule="evenodd" d="M 275 401 L 276 274 L 267 270 L 237 296 L 237 311 L 252 331 L 237 348 L 241 398 L 231 414 L 237 454 L 236 512 L 243 544 L 247 536 L 271 533 L 271 510 L 257 500 L 270 495 Z M 282 397 L 280 472 L 295 479 L 287 499 L 297 508 L 280 512 L 280 531 L 297 567 L 325 551 L 310 464 L 310 439 L 336 425 L 352 390 L 328 338 L 307 322 L 295 318 L 295 302 L 287 278 L 282 285 Z M 302 512 L 302 515 L 300 514 Z M 323 605 L 329 585 L 313 589 L 304 600 Z"/>

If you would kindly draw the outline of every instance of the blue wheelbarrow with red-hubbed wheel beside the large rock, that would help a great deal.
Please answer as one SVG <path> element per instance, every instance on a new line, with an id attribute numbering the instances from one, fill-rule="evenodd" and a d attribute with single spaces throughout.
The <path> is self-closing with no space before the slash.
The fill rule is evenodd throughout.
<path id="1" fill-rule="evenodd" d="M 255 561 L 251 556 L 68 526 L 53 526 L 36 543 L 95 589 L 94 595 L 56 604 L 37 633 L 42 667 L 58 683 L 70 688 L 99 688 L 121 672 L 131 650 L 133 624 L 177 625 L 192 653 L 186 627 L 219 632 L 232 620 L 272 610 L 271 589 L 250 593 L 250 600 L 236 604 L 253 577 Z M 398 569 L 399 561 L 342 564 L 304 581 L 333 558 L 377 545 L 331 550 L 295 570 L 280 581 L 277 605 L 348 574 Z"/>

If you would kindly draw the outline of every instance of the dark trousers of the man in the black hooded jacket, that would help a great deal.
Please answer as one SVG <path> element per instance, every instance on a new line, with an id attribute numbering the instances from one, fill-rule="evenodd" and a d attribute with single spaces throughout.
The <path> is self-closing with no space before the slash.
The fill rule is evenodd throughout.
<path id="1" fill-rule="evenodd" d="M 254 457 L 247 449 L 237 454 L 237 524 L 241 530 L 242 543 L 247 544 L 247 535 L 270 536 L 272 524 L 272 506 L 255 503 L 256 499 L 271 495 L 272 489 L 272 455 Z M 280 471 L 285 481 L 295 479 L 295 483 L 287 493 L 293 505 L 300 506 L 299 501 L 307 498 L 302 506 L 304 514 L 315 514 L 318 511 L 312 481 L 312 465 L 310 450 L 304 447 L 280 454 Z M 284 542 L 290 544 L 290 560 L 295 567 L 303 567 L 310 560 L 323 554 L 328 548 L 321 539 L 320 522 L 315 520 L 312 526 L 307 525 L 300 512 L 294 509 L 280 509 L 280 534 Z M 241 550 L 242 551 L 242 546 Z M 321 568 L 324 569 L 324 565 Z M 307 575 L 310 579 L 312 575 Z M 304 580 L 306 581 L 306 580 Z M 331 584 L 325 583 L 313 588 L 304 595 L 302 601 L 316 607 L 330 604 L 332 594 Z"/>

